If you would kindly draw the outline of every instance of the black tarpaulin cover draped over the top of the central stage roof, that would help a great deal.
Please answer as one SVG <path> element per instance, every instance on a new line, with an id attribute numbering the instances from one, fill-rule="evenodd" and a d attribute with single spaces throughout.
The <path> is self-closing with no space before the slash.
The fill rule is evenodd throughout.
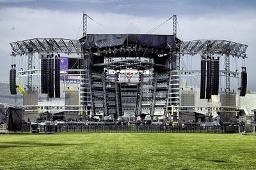
<path id="1" fill-rule="evenodd" d="M 84 48 L 104 48 L 122 45 L 140 45 L 148 48 L 176 49 L 175 36 L 153 34 L 87 34 L 81 38 Z"/>

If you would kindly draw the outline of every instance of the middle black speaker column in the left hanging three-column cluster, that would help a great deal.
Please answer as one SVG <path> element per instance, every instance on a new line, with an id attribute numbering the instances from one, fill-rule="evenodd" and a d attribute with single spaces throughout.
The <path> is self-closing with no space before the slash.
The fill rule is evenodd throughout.
<path id="1" fill-rule="evenodd" d="M 48 94 L 49 97 L 54 97 L 54 73 L 53 73 L 53 62 L 52 59 L 53 55 L 50 56 L 48 59 L 48 81 L 47 81 L 47 87 L 48 87 Z"/>

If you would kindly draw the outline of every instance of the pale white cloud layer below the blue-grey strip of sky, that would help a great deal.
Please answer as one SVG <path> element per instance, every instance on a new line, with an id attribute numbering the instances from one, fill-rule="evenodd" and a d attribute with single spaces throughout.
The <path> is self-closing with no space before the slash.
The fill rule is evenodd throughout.
<path id="1" fill-rule="evenodd" d="M 118 7 L 118 6 L 117 6 Z M 122 6 L 119 6 L 122 8 Z M 168 17 L 141 17 L 122 13 L 87 11 L 102 24 L 88 20 L 88 33 L 145 33 Z M 11 64 L 9 43 L 30 38 L 81 38 L 83 13 L 32 8 L 0 8 L 0 80 L 8 80 Z M 252 73 L 256 71 L 256 11 L 233 12 L 226 15 L 177 15 L 178 37 L 193 39 L 226 39 L 249 45 L 246 60 L 248 89 L 256 91 Z M 78 36 L 77 36 L 78 34 Z M 172 20 L 154 34 L 172 34 Z M 18 59 L 17 59 L 18 62 Z"/>

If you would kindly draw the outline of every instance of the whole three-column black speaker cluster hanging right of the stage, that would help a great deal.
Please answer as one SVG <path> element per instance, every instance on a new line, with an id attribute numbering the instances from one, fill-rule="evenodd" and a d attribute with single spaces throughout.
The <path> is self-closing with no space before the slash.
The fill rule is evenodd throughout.
<path id="1" fill-rule="evenodd" d="M 218 95 L 219 81 L 220 61 L 218 59 L 211 59 L 209 57 L 207 57 L 207 59 L 202 58 L 200 99 L 211 99 L 211 95 Z"/>

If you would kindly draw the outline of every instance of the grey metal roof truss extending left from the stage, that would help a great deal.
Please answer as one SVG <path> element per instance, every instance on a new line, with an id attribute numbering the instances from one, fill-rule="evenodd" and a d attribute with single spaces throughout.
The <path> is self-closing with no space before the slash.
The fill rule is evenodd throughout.
<path id="1" fill-rule="evenodd" d="M 12 55 L 31 53 L 81 53 L 81 44 L 77 39 L 33 38 L 10 43 Z M 29 51 L 30 50 L 30 51 Z"/>

